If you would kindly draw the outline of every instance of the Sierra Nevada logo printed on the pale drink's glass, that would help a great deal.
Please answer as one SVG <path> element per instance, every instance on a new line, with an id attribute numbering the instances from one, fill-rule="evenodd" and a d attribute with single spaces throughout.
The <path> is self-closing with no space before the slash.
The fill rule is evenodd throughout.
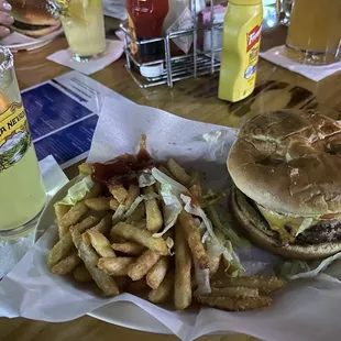
<path id="1" fill-rule="evenodd" d="M 0 113 L 0 173 L 18 163 L 31 143 L 23 105 L 13 102 Z"/>

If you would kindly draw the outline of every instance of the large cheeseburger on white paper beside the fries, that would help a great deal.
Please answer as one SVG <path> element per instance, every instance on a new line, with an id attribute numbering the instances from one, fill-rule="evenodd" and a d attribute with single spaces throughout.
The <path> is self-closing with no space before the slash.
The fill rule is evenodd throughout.
<path id="1" fill-rule="evenodd" d="M 299 260 L 341 251 L 341 127 L 307 111 L 260 114 L 228 158 L 231 206 L 249 239 Z"/>

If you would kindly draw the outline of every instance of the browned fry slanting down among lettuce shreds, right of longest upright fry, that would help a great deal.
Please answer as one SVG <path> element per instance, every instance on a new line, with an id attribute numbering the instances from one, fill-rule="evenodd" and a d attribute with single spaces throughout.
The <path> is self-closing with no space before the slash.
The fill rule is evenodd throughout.
<path id="1" fill-rule="evenodd" d="M 185 231 L 193 258 L 201 270 L 209 268 L 209 256 L 201 243 L 200 232 L 193 217 L 183 210 L 178 220 Z"/>

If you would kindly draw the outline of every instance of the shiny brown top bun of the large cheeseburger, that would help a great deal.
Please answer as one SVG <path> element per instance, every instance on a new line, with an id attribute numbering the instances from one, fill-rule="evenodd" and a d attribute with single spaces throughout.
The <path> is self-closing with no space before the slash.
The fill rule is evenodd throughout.
<path id="1" fill-rule="evenodd" d="M 341 127 L 299 110 L 244 124 L 228 168 L 237 187 L 266 209 L 297 217 L 341 212 Z"/>

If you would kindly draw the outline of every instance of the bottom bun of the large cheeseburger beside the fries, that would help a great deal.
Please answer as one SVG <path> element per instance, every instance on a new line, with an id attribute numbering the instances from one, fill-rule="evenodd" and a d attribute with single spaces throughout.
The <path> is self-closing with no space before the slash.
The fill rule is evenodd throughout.
<path id="1" fill-rule="evenodd" d="M 258 213 L 235 186 L 232 186 L 232 211 L 239 223 L 239 228 L 257 246 L 266 249 L 275 254 L 294 260 L 320 260 L 341 251 L 341 242 L 329 242 L 307 245 L 279 245 L 278 238 L 270 228 L 268 231 L 260 227 L 261 213 Z M 256 217 L 257 215 L 258 217 Z"/>

